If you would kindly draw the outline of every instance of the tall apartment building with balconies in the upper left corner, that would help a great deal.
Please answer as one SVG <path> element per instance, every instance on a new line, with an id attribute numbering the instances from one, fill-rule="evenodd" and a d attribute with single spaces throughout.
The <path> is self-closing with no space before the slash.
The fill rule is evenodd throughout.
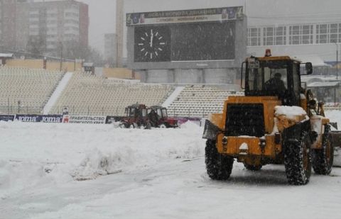
<path id="1" fill-rule="evenodd" d="M 2 0 L 1 9 L 0 40 L 8 50 L 55 54 L 67 42 L 88 45 L 87 4 L 73 0 Z"/>

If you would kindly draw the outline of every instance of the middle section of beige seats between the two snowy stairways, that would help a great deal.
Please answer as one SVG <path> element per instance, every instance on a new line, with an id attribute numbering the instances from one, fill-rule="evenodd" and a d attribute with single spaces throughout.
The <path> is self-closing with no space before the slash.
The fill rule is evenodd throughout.
<path id="1" fill-rule="evenodd" d="M 71 115 L 124 116 L 126 106 L 134 103 L 161 105 L 173 89 L 171 85 L 104 79 L 76 72 L 50 114 L 61 113 L 67 106 Z"/>

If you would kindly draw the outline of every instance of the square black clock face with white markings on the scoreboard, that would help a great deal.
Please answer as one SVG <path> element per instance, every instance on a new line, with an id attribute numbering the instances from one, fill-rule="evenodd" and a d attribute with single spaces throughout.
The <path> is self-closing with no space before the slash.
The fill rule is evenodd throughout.
<path id="1" fill-rule="evenodd" d="M 171 60 L 168 27 L 135 28 L 135 62 L 167 62 Z"/>

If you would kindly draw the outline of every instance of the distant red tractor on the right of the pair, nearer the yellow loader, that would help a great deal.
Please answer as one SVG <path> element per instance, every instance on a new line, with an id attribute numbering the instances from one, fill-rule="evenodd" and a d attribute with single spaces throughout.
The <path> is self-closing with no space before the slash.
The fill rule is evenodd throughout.
<path id="1" fill-rule="evenodd" d="M 148 108 L 148 118 L 152 127 L 155 128 L 178 128 L 178 120 L 168 118 L 167 108 L 151 106 Z"/>

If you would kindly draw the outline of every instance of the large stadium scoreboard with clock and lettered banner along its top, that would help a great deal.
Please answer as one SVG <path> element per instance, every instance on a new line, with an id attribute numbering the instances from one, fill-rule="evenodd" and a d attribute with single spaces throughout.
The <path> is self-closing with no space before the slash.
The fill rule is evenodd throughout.
<path id="1" fill-rule="evenodd" d="M 129 63 L 133 69 L 157 69 L 234 62 L 238 46 L 246 50 L 246 40 L 237 40 L 243 39 L 243 20 L 242 6 L 127 13 Z"/>

